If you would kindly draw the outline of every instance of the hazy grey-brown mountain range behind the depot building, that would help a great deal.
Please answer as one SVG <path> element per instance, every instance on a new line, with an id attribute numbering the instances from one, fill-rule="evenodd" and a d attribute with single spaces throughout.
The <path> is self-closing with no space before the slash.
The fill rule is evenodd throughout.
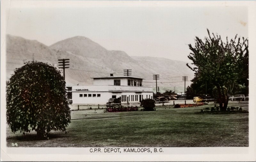
<path id="1" fill-rule="evenodd" d="M 70 59 L 70 68 L 65 70 L 67 86 L 90 85 L 93 81 L 90 77 L 109 76 L 109 73 L 123 76 L 124 69 L 132 69 L 132 76 L 145 78 L 144 86 L 155 87 L 153 75 L 159 74 L 161 80 L 158 80 L 157 85 L 160 92 L 173 89 L 174 86 L 176 92 L 183 92 L 182 76 L 193 78 L 193 72 L 185 62 L 158 57 L 131 57 L 124 51 L 107 50 L 82 36 L 68 38 L 51 46 L 35 40 L 6 36 L 7 79 L 15 68 L 21 67 L 25 62 L 35 60 L 57 66 L 58 59 L 63 58 Z"/>

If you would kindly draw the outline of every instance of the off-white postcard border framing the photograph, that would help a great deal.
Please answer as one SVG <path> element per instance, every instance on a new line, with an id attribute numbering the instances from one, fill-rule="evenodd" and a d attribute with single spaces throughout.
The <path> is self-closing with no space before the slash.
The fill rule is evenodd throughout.
<path id="1" fill-rule="evenodd" d="M 248 6 L 249 24 L 249 147 L 163 148 L 162 154 L 90 153 L 89 148 L 6 148 L 5 31 L 8 9 L 18 7 L 110 7 L 110 6 Z M 238 11 L 239 12 L 239 11 Z M 255 158 L 255 1 L 1 1 L 1 160 L 4 161 L 256 161 Z M 128 155 L 128 156 L 127 156 Z"/>

